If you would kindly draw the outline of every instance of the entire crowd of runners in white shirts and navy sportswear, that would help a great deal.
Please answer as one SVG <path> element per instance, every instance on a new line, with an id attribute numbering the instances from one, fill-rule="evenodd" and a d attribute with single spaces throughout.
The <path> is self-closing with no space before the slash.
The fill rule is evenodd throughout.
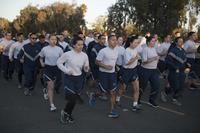
<path id="1" fill-rule="evenodd" d="M 166 35 L 160 41 L 157 34 L 150 33 L 126 38 L 115 33 L 89 33 L 85 37 L 82 32 L 70 38 L 63 31 L 59 35 L 30 33 L 25 40 L 23 33 L 13 39 L 12 33 L 7 32 L 0 39 L 0 71 L 8 83 L 16 72 L 18 88 L 23 88 L 26 96 L 32 95 L 39 76 L 52 112 L 57 109 L 54 93 L 63 86 L 63 124 L 74 122 L 72 112 L 82 101 L 84 88 L 90 106 L 95 106 L 97 98 L 110 97 L 110 118 L 119 117 L 116 106 L 122 106 L 120 100 L 127 88 L 132 89 L 132 111 L 140 111 L 148 83 L 150 106 L 158 107 L 159 93 L 163 102 L 169 101 L 170 96 L 172 103 L 181 106 L 184 82 L 191 90 L 199 85 L 200 46 L 196 45 L 195 32 L 189 32 L 186 40 L 178 32 L 173 38 Z M 161 78 L 165 81 L 163 89 Z"/>

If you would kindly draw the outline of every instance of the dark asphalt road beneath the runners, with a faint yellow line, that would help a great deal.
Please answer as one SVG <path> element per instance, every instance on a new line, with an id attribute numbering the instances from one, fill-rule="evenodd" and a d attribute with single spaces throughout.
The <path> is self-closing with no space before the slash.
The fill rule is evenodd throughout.
<path id="1" fill-rule="evenodd" d="M 84 104 L 74 111 L 75 123 L 68 125 L 59 122 L 65 104 L 62 92 L 55 95 L 58 110 L 50 112 L 39 82 L 32 96 L 24 96 L 15 79 L 8 82 L 0 77 L 0 91 L 0 133 L 200 133 L 200 90 L 185 90 L 180 107 L 158 98 L 161 108 L 143 104 L 139 113 L 129 110 L 131 100 L 124 97 L 122 105 L 128 111 L 119 108 L 117 119 L 107 117 L 108 101 L 97 100 L 95 107 L 89 107 L 83 95 Z"/>

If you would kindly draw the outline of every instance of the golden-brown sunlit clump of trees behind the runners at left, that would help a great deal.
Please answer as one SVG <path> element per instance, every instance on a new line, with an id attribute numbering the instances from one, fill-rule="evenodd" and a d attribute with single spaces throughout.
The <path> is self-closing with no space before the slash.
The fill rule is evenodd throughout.
<path id="1" fill-rule="evenodd" d="M 41 31 L 60 33 L 65 29 L 74 33 L 85 26 L 86 11 L 87 6 L 84 4 L 76 6 L 56 2 L 41 9 L 29 5 L 20 11 L 12 27 L 14 32 L 23 32 L 26 35 Z"/>

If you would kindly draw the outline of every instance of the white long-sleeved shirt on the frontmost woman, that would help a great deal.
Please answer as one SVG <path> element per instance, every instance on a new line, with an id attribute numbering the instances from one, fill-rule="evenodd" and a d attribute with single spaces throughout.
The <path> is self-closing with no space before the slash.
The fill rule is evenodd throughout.
<path id="1" fill-rule="evenodd" d="M 72 71 L 70 75 L 80 76 L 84 67 L 89 68 L 88 56 L 84 52 L 68 51 L 58 59 L 57 66 L 65 74 L 69 74 L 69 71 Z"/>

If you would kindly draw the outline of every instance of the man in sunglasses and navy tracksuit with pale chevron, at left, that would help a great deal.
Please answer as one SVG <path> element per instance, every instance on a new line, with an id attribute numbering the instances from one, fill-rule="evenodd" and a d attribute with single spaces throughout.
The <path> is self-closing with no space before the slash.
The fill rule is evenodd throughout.
<path id="1" fill-rule="evenodd" d="M 24 45 L 18 54 L 18 59 L 23 63 L 25 76 L 24 95 L 31 95 L 34 90 L 37 72 L 39 69 L 39 53 L 41 46 L 37 43 L 35 33 L 30 34 L 30 43 Z"/>

